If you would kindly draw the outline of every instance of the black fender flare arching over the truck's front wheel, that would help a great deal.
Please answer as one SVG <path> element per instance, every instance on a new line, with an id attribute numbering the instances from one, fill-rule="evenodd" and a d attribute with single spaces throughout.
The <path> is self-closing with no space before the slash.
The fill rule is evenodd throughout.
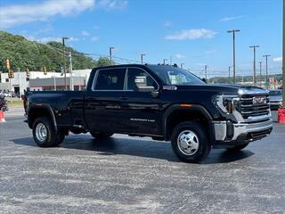
<path id="1" fill-rule="evenodd" d="M 165 138 L 165 140 L 167 140 L 167 119 L 169 117 L 169 115 L 171 115 L 172 112 L 174 111 L 179 111 L 179 110 L 183 110 L 183 111 L 200 111 L 206 119 L 208 120 L 213 120 L 212 115 L 208 112 L 208 110 L 199 104 L 191 104 L 191 106 L 189 107 L 182 107 L 180 105 L 180 103 L 177 104 L 173 104 L 170 107 L 167 108 L 167 111 L 165 111 L 163 118 L 162 118 L 162 126 L 163 126 L 163 136 Z"/>

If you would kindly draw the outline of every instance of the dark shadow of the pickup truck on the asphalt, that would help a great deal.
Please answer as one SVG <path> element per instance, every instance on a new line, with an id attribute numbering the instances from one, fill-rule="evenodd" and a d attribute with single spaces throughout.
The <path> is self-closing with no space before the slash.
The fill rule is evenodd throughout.
<path id="1" fill-rule="evenodd" d="M 124 136 L 123 136 L 124 137 Z M 169 142 L 159 142 L 140 139 L 140 138 L 123 138 L 110 137 L 109 139 L 94 139 L 88 135 L 68 136 L 65 141 L 58 147 L 94 151 L 99 155 L 116 155 L 124 154 L 143 158 L 161 159 L 173 162 L 180 162 L 172 151 Z M 12 139 L 14 144 L 37 146 L 32 137 Z M 43 148 L 43 151 L 45 148 Z M 227 163 L 246 159 L 253 155 L 254 152 L 243 150 L 240 152 L 227 152 L 222 149 L 212 150 L 208 158 L 201 164 Z"/>

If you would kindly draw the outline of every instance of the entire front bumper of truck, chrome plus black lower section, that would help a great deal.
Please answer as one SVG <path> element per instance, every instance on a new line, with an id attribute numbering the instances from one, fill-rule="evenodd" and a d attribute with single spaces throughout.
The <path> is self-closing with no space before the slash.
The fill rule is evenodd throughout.
<path id="1" fill-rule="evenodd" d="M 252 123 L 232 123 L 231 121 L 213 121 L 215 143 L 219 147 L 232 147 L 247 144 L 265 136 L 273 129 L 273 119 Z"/>

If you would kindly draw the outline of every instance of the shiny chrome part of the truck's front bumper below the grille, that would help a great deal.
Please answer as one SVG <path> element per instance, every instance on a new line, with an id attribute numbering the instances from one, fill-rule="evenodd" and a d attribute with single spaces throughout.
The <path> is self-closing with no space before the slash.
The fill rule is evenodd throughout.
<path id="1" fill-rule="evenodd" d="M 273 128 L 273 119 L 268 119 L 255 123 L 230 123 L 227 121 L 213 121 L 216 141 L 232 142 L 236 141 L 239 136 L 260 133 L 268 130 L 269 133 Z M 230 128 L 229 128 L 230 127 Z M 231 134 L 229 134 L 231 130 Z M 269 134 L 268 134 L 269 135 Z M 262 138 L 262 137 L 259 137 Z M 248 139 L 253 141 L 254 139 Z"/>

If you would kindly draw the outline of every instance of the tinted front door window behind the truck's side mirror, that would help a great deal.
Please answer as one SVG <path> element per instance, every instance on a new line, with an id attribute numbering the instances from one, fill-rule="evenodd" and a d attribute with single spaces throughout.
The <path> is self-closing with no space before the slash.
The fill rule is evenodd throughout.
<path id="1" fill-rule="evenodd" d="M 155 89 L 158 89 L 158 85 L 147 72 L 141 69 L 129 68 L 127 70 L 127 90 L 136 90 L 136 86 L 134 83 L 135 77 L 146 77 L 146 86 L 154 86 Z"/>

